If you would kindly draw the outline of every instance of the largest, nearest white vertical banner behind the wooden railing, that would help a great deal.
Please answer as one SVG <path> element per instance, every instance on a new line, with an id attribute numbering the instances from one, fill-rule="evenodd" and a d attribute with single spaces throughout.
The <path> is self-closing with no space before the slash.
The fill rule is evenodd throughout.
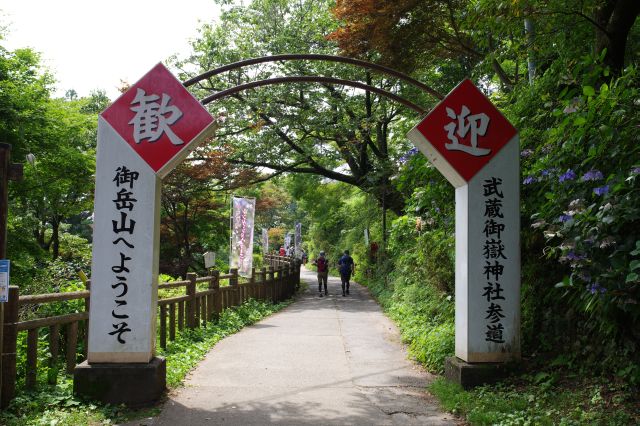
<path id="1" fill-rule="evenodd" d="M 242 277 L 251 276 L 253 266 L 253 218 L 255 198 L 233 197 L 230 267 Z"/>

